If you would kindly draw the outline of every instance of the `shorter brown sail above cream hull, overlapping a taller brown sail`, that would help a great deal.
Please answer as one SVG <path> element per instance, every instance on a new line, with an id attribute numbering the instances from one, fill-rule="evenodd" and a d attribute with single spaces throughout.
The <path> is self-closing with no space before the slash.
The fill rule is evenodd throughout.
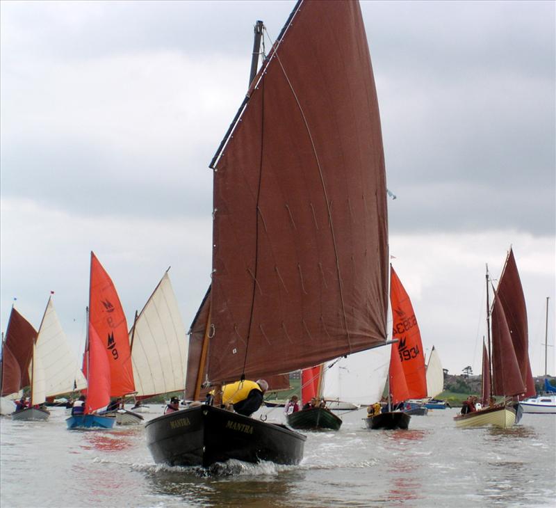
<path id="1" fill-rule="evenodd" d="M 521 377 L 514 344 L 512 344 L 512 334 L 498 293 L 494 296 L 491 322 L 493 395 L 505 397 L 523 395 L 526 386 Z"/>

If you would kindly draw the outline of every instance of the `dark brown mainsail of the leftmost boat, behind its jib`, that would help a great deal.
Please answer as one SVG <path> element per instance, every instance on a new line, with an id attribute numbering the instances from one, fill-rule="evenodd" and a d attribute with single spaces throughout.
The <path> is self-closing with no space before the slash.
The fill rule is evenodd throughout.
<path id="1" fill-rule="evenodd" d="M 31 363 L 31 356 L 33 356 L 33 344 L 37 340 L 37 331 L 33 326 L 21 315 L 15 308 L 10 312 L 10 319 L 8 321 L 8 330 L 6 330 L 5 344 L 10 349 L 17 365 L 19 365 L 19 372 L 21 382 L 19 388 L 31 384 L 29 379 L 29 363 Z M 3 388 L 2 388 L 2 391 Z"/>

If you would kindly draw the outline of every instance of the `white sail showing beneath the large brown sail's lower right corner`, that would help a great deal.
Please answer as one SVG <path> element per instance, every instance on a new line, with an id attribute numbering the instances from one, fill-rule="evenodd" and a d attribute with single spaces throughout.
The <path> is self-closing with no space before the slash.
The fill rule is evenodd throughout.
<path id="1" fill-rule="evenodd" d="M 382 397 L 389 365 L 389 347 L 368 349 L 325 364 L 322 397 L 359 406 L 373 404 Z"/>

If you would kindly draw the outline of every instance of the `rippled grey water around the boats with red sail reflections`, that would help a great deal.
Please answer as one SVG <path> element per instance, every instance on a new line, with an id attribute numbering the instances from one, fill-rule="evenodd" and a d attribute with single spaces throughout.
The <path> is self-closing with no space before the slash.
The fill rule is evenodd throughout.
<path id="1" fill-rule="evenodd" d="M 160 406 L 152 406 L 154 418 Z M 265 408 L 269 421 L 281 408 Z M 142 427 L 67 431 L 2 418 L 0 505 L 10 507 L 535 507 L 556 505 L 556 415 L 507 430 L 456 429 L 455 409 L 370 431 L 363 411 L 338 432 L 308 432 L 299 466 L 156 466 Z"/>

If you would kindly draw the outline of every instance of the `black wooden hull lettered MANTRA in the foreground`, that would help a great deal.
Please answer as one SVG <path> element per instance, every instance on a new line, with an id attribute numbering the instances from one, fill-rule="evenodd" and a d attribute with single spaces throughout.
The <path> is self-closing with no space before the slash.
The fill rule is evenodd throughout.
<path id="1" fill-rule="evenodd" d="M 154 461 L 170 466 L 207 467 L 229 459 L 297 464 L 306 440 L 284 425 L 206 405 L 159 416 L 145 431 Z"/>

